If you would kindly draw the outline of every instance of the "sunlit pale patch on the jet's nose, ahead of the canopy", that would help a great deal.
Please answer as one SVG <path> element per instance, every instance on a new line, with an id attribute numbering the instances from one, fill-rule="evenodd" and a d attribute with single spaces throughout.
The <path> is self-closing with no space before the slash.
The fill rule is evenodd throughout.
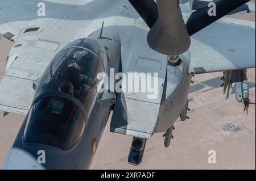
<path id="1" fill-rule="evenodd" d="M 43 164 L 39 164 L 37 158 L 19 148 L 11 148 L 5 160 L 5 170 L 44 170 Z"/>

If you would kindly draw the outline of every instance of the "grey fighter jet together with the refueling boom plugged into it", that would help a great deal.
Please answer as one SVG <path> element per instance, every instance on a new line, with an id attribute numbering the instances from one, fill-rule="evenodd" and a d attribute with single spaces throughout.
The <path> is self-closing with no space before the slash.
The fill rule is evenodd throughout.
<path id="1" fill-rule="evenodd" d="M 89 169 L 110 111 L 110 132 L 133 137 L 128 162 L 138 165 L 154 133 L 168 147 L 175 121 L 188 119 L 196 74 L 223 71 L 225 98 L 233 87 L 248 111 L 255 23 L 224 17 L 247 2 L 1 0 L 0 35 L 14 45 L 0 110 L 26 115 L 3 169 Z M 125 91 L 120 73 L 141 75 L 139 90 L 144 73 L 156 91 Z"/>

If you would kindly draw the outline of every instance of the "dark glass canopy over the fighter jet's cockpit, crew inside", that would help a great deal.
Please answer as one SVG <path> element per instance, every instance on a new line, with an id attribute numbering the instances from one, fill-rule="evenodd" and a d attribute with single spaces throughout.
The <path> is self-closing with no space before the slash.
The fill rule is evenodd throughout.
<path id="1" fill-rule="evenodd" d="M 106 60 L 104 48 L 94 39 L 76 40 L 60 50 L 36 89 L 24 141 L 71 149 L 100 98 L 97 77 L 105 72 Z"/>

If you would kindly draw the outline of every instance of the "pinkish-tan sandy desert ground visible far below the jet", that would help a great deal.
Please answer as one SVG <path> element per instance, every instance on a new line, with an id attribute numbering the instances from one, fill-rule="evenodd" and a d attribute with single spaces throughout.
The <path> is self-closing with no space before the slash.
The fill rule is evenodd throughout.
<path id="1" fill-rule="evenodd" d="M 255 21 L 255 14 L 249 19 Z M 5 39 L 0 40 L 0 77 L 5 71 L 6 54 L 11 45 Z M 174 140 L 167 149 L 162 133 L 152 136 L 139 166 L 127 163 L 132 137 L 110 133 L 109 121 L 91 169 L 255 169 L 255 106 L 250 107 L 249 116 L 246 116 L 234 94 L 225 100 L 222 88 L 217 88 L 221 84 L 220 77 L 222 73 L 193 78 L 195 83 L 189 94 L 191 111 L 188 113 L 191 119 L 176 122 Z M 255 102 L 255 69 L 248 71 L 248 77 L 251 102 Z M 2 117 L 0 113 L 1 167 L 24 116 L 9 114 Z M 225 123 L 236 123 L 243 129 L 235 133 L 225 132 L 221 128 Z M 208 163 L 209 150 L 216 151 L 216 164 Z"/>

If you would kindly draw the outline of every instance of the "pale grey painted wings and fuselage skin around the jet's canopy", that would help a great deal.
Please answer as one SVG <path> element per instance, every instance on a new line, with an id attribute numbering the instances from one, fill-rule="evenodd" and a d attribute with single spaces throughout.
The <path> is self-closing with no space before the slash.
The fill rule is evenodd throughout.
<path id="1" fill-rule="evenodd" d="M 156 100 L 148 100 L 143 94 L 131 97 L 128 94 L 104 92 L 94 105 L 95 109 L 80 141 L 67 151 L 47 145 L 24 144 L 26 118 L 4 169 L 88 169 L 93 158 L 92 142 L 96 140 L 98 144 L 100 141 L 112 107 L 112 99 L 117 99 L 113 117 L 119 118 L 119 111 L 125 113 L 122 115 L 125 118 L 123 120 L 112 119 L 112 131 L 150 138 L 155 132 L 167 131 L 180 114 L 187 110 L 191 74 L 255 66 L 255 41 L 251 38 L 255 37 L 255 24 L 251 22 L 222 18 L 192 36 L 191 49 L 180 55 L 183 61 L 183 68 L 180 68 L 167 65 L 167 56 L 148 46 L 149 28 L 125 0 L 47 1 L 49 9 L 45 18 L 38 18 L 32 13 L 37 11 L 34 5 L 38 2 L 40 1 L 1 1 L 0 34 L 13 40 L 15 44 L 9 53 L 6 73 L 0 82 L 0 110 L 26 115 L 33 100 L 33 82 L 40 79 L 53 56 L 73 40 L 88 36 L 97 39 L 103 21 L 105 24 L 102 36 L 112 39 L 99 39 L 106 47 L 108 68 L 118 70 L 121 64 L 123 73 L 150 72 L 150 65 L 143 61 L 137 64 L 138 60 L 141 57 L 159 60 L 162 66 L 154 71 L 159 71 L 160 82 L 163 84 L 159 86 L 161 91 Z M 12 8 L 14 4 L 18 6 L 17 9 Z M 181 10 L 183 9 L 185 8 L 181 6 Z M 186 12 L 188 13 L 183 14 L 185 22 L 191 14 L 191 11 Z M 39 28 L 37 31 L 24 33 L 28 28 L 36 27 Z M 223 38 L 216 39 L 215 35 Z M 129 111 L 133 113 L 127 113 Z M 149 113 L 142 115 L 143 111 Z M 122 121 L 124 124 L 120 124 Z M 37 151 L 41 149 L 46 150 L 47 155 L 46 165 L 43 167 L 35 161 Z M 27 161 L 26 165 L 23 164 L 24 161 Z"/>

